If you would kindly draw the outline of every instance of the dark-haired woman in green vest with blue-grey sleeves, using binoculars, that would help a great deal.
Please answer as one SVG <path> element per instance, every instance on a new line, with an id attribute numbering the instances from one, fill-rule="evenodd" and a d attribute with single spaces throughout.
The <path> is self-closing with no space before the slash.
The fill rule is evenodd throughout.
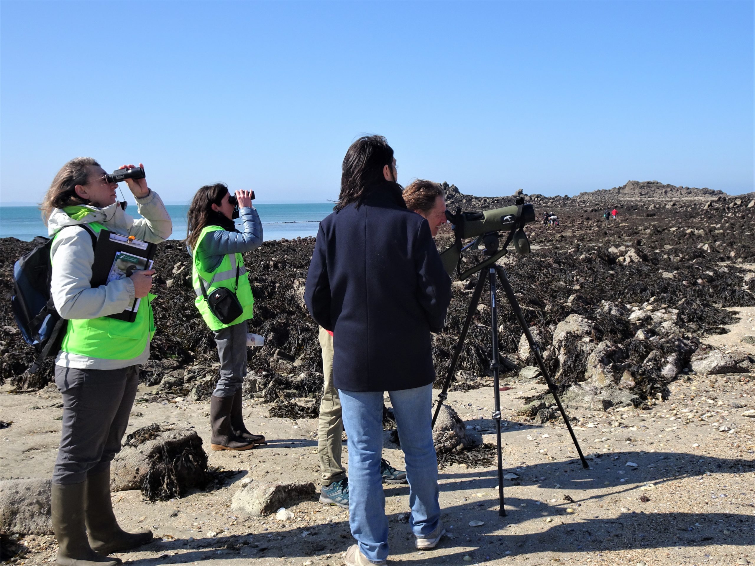
<path id="1" fill-rule="evenodd" d="M 252 316 L 251 294 L 243 253 L 262 244 L 262 223 L 251 205 L 252 191 L 228 192 L 223 183 L 203 186 L 192 199 L 186 247 L 193 256 L 193 285 L 196 308 L 213 331 L 220 358 L 220 378 L 210 401 L 212 450 L 248 450 L 264 444 L 265 437 L 251 434 L 242 418 L 242 384 L 247 370 L 247 321 Z M 238 214 L 243 230 L 233 223 Z M 239 300 L 241 314 L 220 321 L 212 312 L 208 298 L 217 290 L 232 291 Z M 221 317 L 222 318 L 222 317 Z"/>

